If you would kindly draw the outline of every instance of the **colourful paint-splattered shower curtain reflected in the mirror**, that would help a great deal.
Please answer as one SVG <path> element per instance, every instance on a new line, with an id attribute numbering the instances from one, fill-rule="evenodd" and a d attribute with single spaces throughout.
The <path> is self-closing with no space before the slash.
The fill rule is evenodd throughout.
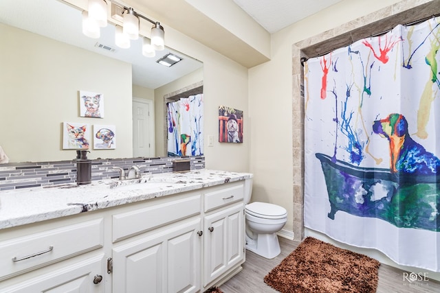
<path id="1" fill-rule="evenodd" d="M 203 94 L 166 104 L 168 156 L 203 154 Z"/>

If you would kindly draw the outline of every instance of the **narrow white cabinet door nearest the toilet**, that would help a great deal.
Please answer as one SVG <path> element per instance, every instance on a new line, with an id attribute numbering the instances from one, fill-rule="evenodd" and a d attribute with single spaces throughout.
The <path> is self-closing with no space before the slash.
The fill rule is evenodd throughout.
<path id="1" fill-rule="evenodd" d="M 203 286 L 243 259 L 244 224 L 243 203 L 204 218 Z"/>

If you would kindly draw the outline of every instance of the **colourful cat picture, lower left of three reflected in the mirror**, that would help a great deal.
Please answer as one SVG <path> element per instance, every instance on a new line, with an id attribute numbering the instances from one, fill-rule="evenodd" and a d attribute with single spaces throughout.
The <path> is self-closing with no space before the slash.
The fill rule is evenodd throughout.
<path id="1" fill-rule="evenodd" d="M 88 150 L 90 132 L 89 124 L 63 122 L 63 150 Z"/>

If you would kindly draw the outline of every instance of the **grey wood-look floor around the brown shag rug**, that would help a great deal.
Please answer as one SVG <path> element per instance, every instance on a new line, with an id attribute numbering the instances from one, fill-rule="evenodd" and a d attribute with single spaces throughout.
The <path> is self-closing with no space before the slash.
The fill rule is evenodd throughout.
<path id="1" fill-rule="evenodd" d="M 243 263 L 243 270 L 220 286 L 223 293 L 278 292 L 266 285 L 263 278 L 300 244 L 300 242 L 291 241 L 283 237 L 278 237 L 278 239 L 280 241 L 281 254 L 274 259 L 265 259 L 246 250 L 246 262 Z M 404 281 L 403 272 L 404 271 L 393 268 L 392 266 L 381 264 L 379 268 L 377 293 L 440 292 L 440 282 L 429 280 L 426 282 L 414 281 L 409 283 L 408 281 Z"/>

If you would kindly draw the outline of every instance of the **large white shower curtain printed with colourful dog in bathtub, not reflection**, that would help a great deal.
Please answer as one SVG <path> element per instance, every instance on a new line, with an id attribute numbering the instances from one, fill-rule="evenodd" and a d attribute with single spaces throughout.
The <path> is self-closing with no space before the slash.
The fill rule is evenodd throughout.
<path id="1" fill-rule="evenodd" d="M 440 271 L 440 18 L 305 64 L 305 226 Z"/>

